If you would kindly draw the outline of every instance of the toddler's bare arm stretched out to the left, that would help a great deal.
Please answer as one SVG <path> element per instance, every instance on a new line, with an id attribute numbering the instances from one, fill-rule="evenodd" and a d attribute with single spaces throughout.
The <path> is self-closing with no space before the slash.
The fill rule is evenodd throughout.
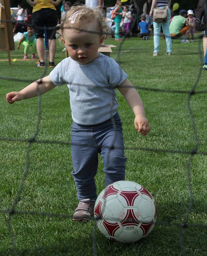
<path id="1" fill-rule="evenodd" d="M 49 76 L 45 76 L 42 79 L 38 79 L 37 81 L 29 84 L 27 87 L 22 89 L 20 92 L 9 92 L 6 94 L 6 101 L 10 104 L 15 101 L 30 99 L 38 96 L 38 92 L 40 95 L 45 92 L 49 92 L 56 85 L 52 83 Z"/>

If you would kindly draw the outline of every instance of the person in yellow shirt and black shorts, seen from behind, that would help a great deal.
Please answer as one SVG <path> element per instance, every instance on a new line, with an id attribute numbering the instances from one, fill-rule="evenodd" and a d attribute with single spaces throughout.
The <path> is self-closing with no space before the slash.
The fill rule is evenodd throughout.
<path id="1" fill-rule="evenodd" d="M 34 34 L 37 38 L 37 53 L 40 60 L 36 63 L 37 67 L 45 67 L 44 58 L 44 26 L 47 30 L 47 38 L 49 41 L 49 67 L 54 67 L 54 57 L 56 53 L 56 37 L 55 37 L 55 27 L 57 25 L 57 13 L 56 5 L 58 5 L 62 0 L 51 1 L 51 0 L 39 0 L 31 1 L 26 0 L 27 3 L 33 6 L 32 11 L 32 25 L 34 28 Z M 54 29 L 49 29 L 54 28 Z"/>

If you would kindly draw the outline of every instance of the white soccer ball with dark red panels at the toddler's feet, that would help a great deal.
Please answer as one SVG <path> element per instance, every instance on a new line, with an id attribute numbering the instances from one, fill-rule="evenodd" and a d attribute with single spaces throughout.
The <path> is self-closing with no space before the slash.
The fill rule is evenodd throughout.
<path id="1" fill-rule="evenodd" d="M 134 243 L 152 231 L 157 207 L 146 188 L 133 181 L 121 180 L 99 194 L 94 217 L 98 229 L 108 239 Z"/>

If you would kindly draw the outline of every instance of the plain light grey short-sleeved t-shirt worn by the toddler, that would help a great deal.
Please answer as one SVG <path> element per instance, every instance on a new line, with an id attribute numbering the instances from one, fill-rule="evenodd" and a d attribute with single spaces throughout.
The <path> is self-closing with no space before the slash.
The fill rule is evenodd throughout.
<path id="1" fill-rule="evenodd" d="M 66 58 L 49 76 L 55 85 L 67 84 L 73 121 L 84 125 L 102 123 L 116 114 L 115 88 L 127 78 L 118 63 L 102 53 L 88 64 Z"/>

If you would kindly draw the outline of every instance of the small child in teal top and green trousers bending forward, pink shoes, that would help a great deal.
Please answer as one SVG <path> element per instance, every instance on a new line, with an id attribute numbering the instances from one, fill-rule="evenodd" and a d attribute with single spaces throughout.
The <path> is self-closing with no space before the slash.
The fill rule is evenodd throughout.
<path id="1" fill-rule="evenodd" d="M 31 27 L 27 27 L 27 32 L 23 33 L 22 38 L 20 39 L 17 49 L 19 50 L 20 44 L 24 45 L 24 58 L 25 60 L 28 59 L 28 50 L 29 46 L 32 47 L 32 59 L 37 59 L 35 56 L 36 53 L 36 36 L 34 35 L 34 29 Z"/>

